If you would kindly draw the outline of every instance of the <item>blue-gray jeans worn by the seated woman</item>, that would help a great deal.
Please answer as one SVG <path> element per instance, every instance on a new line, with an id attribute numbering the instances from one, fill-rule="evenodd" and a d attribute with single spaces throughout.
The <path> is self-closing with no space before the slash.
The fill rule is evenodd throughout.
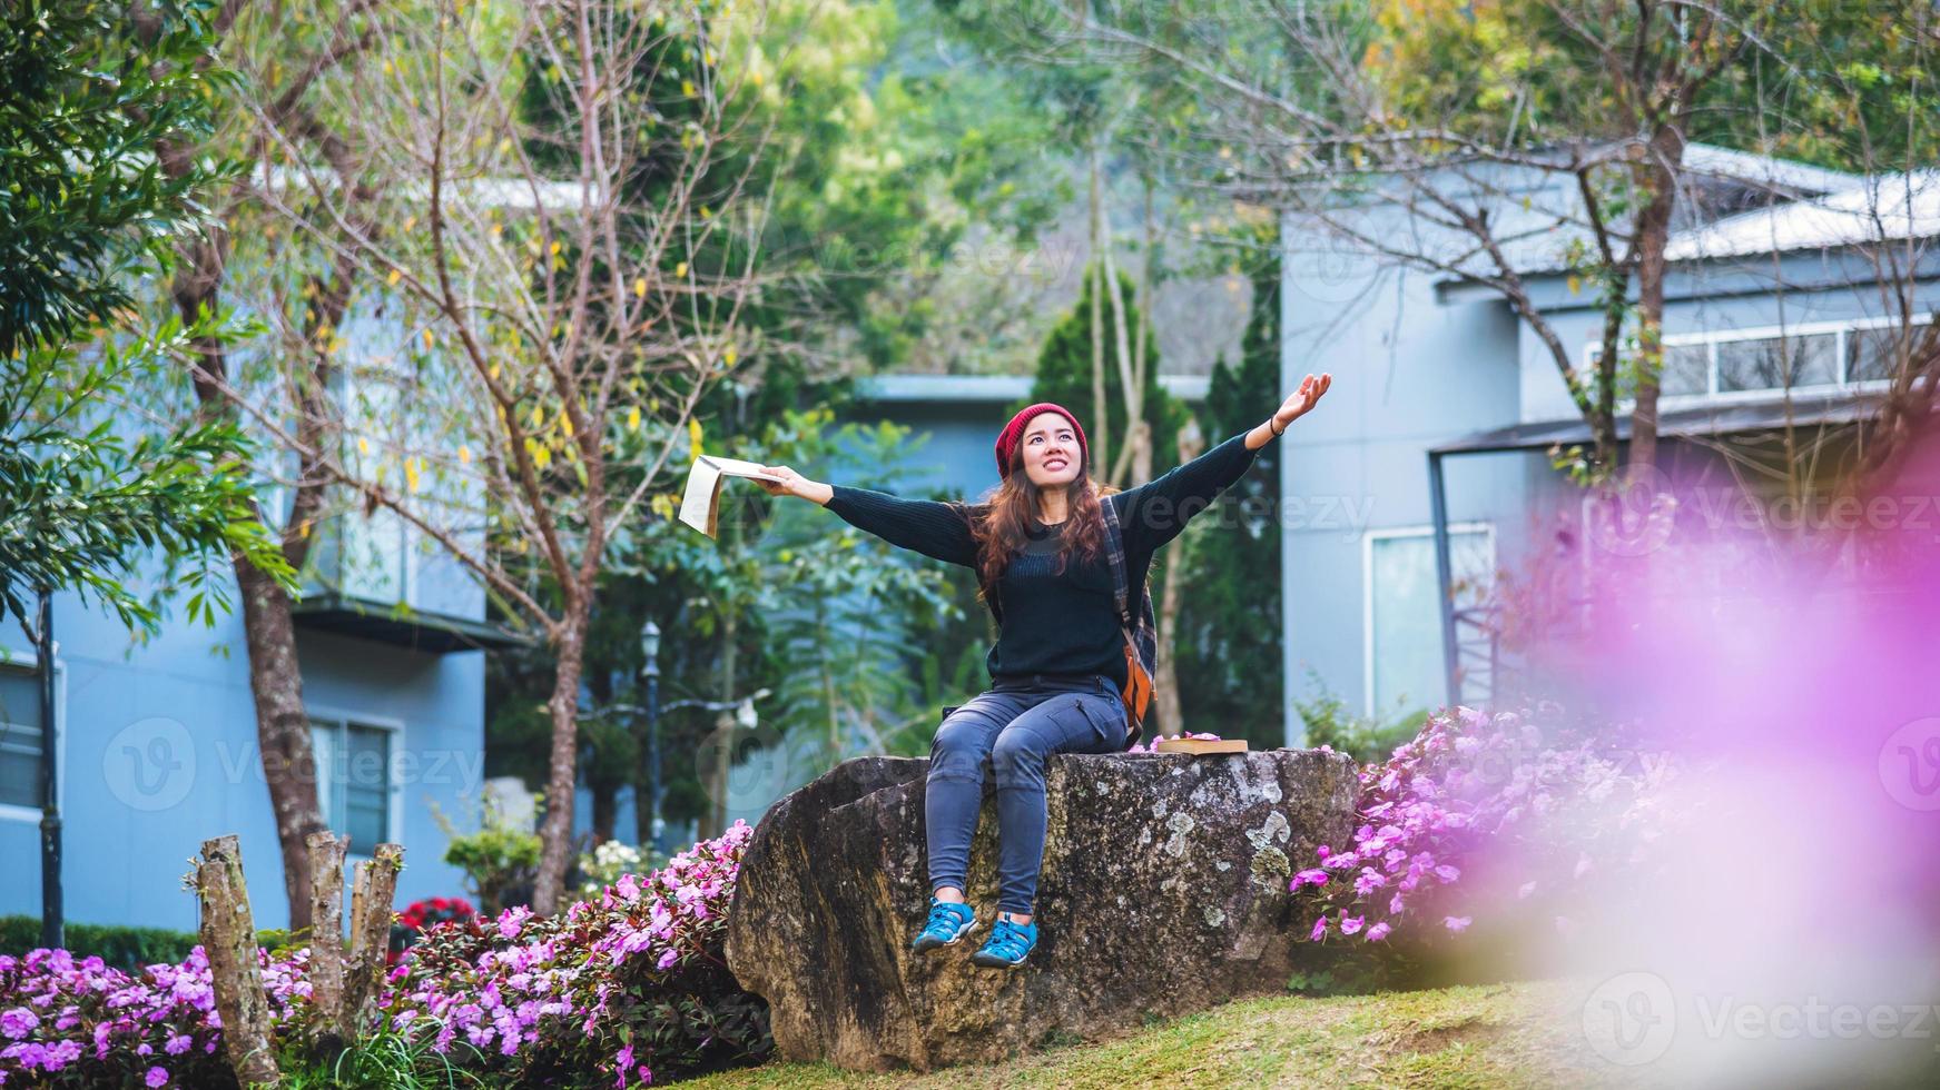
<path id="1" fill-rule="evenodd" d="M 997 782 L 997 908 L 1030 914 L 1044 863 L 1044 764 L 1125 749 L 1125 702 L 1104 675 L 999 675 L 945 716 L 929 743 L 923 828 L 929 890 L 968 886 L 986 758 Z"/>

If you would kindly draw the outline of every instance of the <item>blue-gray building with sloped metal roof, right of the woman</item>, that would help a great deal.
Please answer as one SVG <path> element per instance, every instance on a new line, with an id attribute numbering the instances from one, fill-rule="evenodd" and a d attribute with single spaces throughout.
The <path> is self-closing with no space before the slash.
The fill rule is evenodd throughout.
<path id="1" fill-rule="evenodd" d="M 1895 337 L 1940 301 L 1924 244 L 1940 237 L 1940 175 L 1860 178 L 1705 145 L 1690 147 L 1686 171 L 1666 254 L 1665 460 L 1721 469 L 1719 440 L 1857 419 L 1884 388 Z M 1467 200 L 1500 237 L 1535 229 L 1513 264 L 1575 367 L 1591 367 L 1604 312 L 1562 270 L 1577 233 L 1552 227 L 1581 221 L 1573 182 L 1496 175 Z M 1352 215 L 1354 235 L 1453 252 L 1399 206 Z M 1548 454 L 1589 446 L 1589 429 L 1552 351 L 1496 289 L 1370 254 L 1304 217 L 1288 217 L 1282 239 L 1282 384 L 1337 378 L 1282 460 L 1288 687 L 1313 671 L 1374 716 L 1486 700 L 1511 665 L 1490 654 L 1494 574 L 1560 541 L 1597 561 L 1599 535 L 1575 518 L 1581 493 Z M 1620 436 L 1628 411 L 1620 401 Z M 1292 710 L 1286 737 L 1300 739 Z"/>

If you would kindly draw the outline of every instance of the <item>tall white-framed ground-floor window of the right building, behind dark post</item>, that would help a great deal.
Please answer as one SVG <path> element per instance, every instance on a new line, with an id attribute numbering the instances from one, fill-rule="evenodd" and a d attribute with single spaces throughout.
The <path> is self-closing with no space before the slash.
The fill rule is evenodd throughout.
<path id="1" fill-rule="evenodd" d="M 1457 605 L 1469 605 L 1496 572 L 1494 528 L 1449 526 L 1449 561 Z M 1447 696 L 1447 671 L 1434 528 L 1370 531 L 1366 580 L 1368 714 L 1391 718 L 1439 708 Z"/>

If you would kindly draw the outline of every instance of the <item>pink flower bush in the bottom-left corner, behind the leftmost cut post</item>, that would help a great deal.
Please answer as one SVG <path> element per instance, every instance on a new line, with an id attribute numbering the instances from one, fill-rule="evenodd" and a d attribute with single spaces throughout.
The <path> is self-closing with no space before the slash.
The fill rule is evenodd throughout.
<path id="1" fill-rule="evenodd" d="M 270 1018 L 303 1032 L 308 952 L 258 950 Z M 48 1088 L 235 1086 L 202 946 L 182 964 L 128 974 L 68 950 L 0 956 L 0 1084 Z"/>

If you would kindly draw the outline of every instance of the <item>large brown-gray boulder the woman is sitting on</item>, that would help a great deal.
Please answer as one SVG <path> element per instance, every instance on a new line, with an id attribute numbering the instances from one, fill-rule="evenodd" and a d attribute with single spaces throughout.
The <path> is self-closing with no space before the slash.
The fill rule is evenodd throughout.
<path id="1" fill-rule="evenodd" d="M 728 968 L 768 1001 L 788 1059 L 999 1061 L 1282 991 L 1304 952 L 1292 859 L 1344 840 L 1354 815 L 1341 754 L 1053 756 L 1038 948 L 1018 970 L 986 970 L 970 952 L 997 904 L 987 785 L 970 850 L 974 943 L 910 952 L 929 908 L 927 766 L 846 760 L 776 803 L 743 851 Z"/>

